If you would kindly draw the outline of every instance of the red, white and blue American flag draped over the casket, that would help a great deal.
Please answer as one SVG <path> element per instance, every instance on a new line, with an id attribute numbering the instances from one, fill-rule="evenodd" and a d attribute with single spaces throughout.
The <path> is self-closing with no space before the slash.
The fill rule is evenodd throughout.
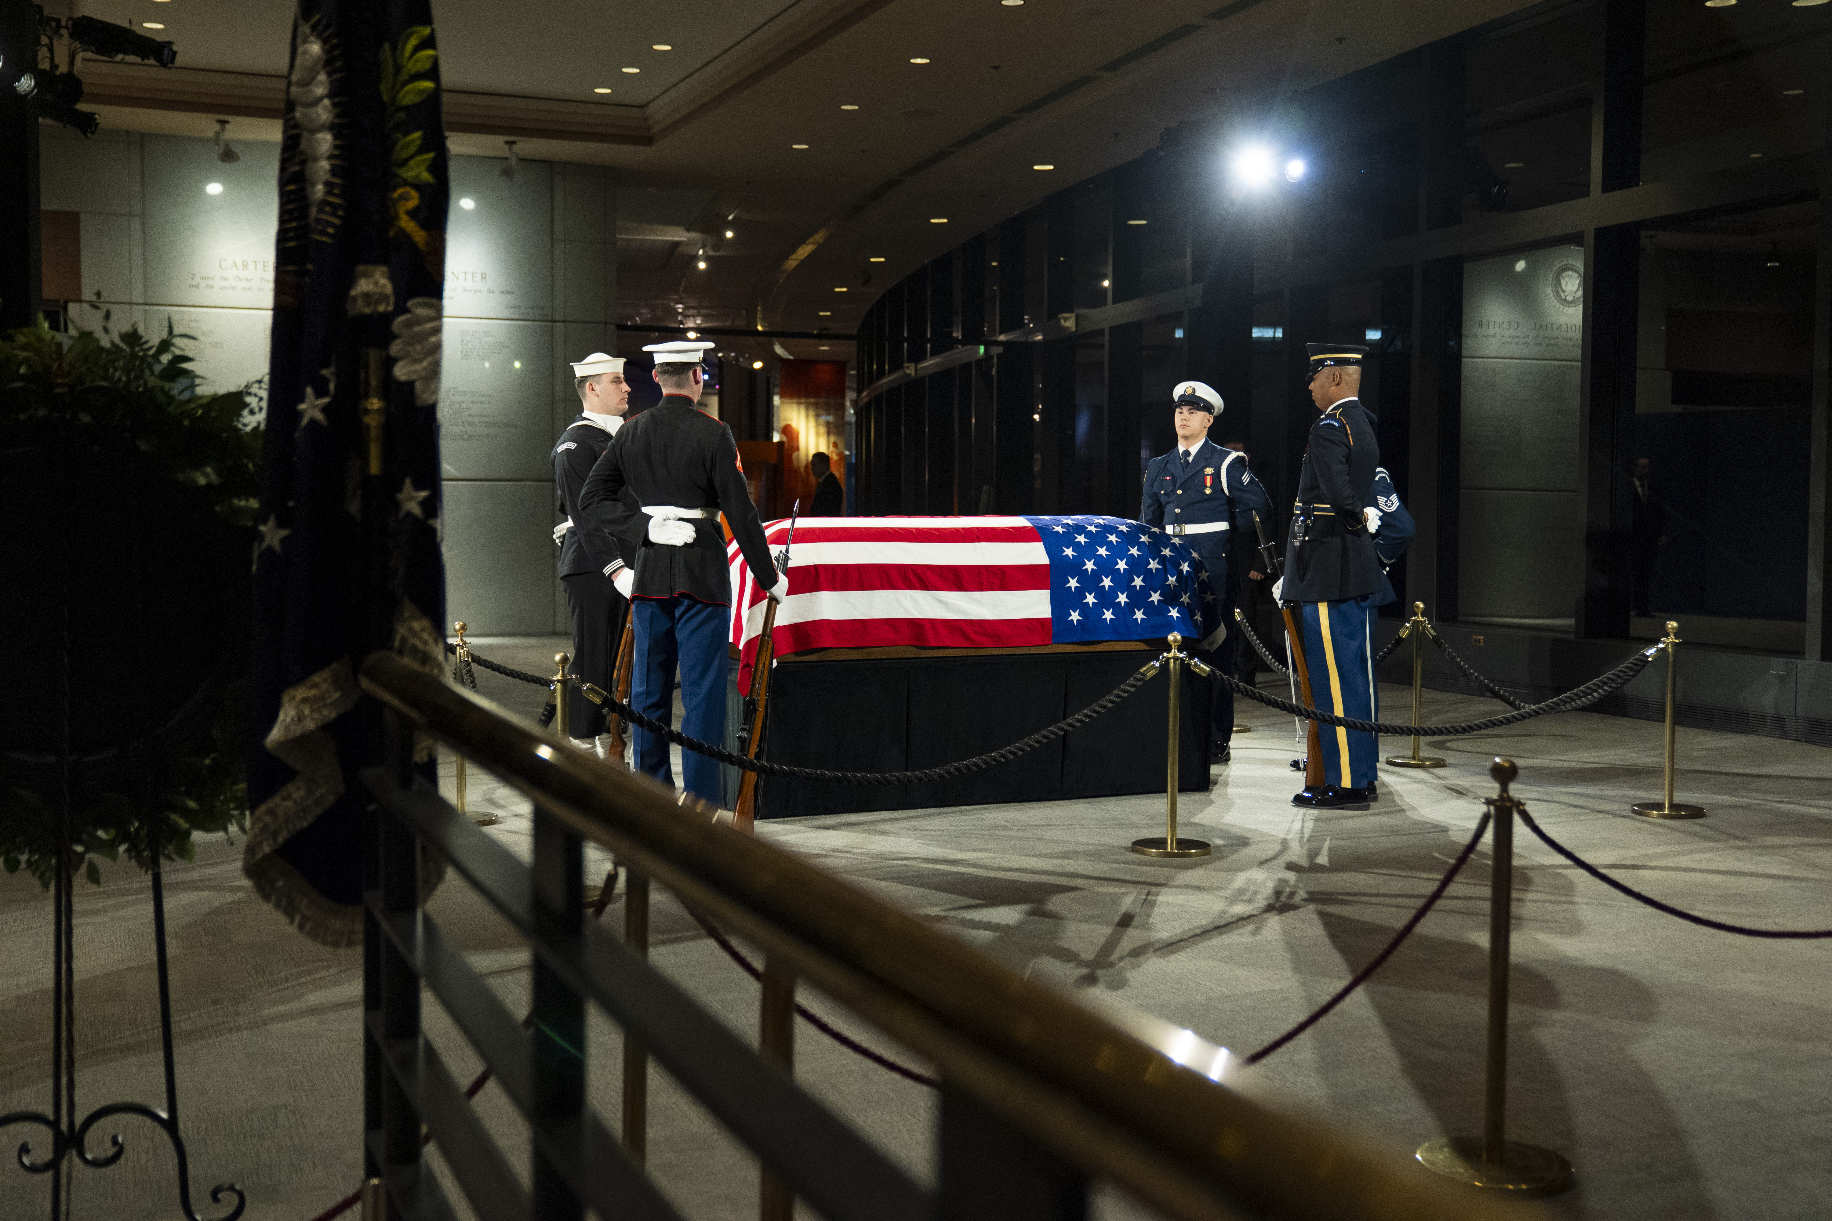
<path id="1" fill-rule="evenodd" d="M 771 553 L 788 520 L 766 525 Z M 738 546 L 731 643 L 749 690 L 768 597 Z M 1019 648 L 1202 639 L 1220 613 L 1182 538 L 1101 516 L 812 518 L 795 527 L 777 655 L 812 648 Z"/>

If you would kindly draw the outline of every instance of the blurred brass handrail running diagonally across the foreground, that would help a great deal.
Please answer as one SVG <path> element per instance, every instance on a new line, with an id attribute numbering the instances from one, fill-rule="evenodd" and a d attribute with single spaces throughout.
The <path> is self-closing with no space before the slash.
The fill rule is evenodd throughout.
<path id="1" fill-rule="evenodd" d="M 1042 1148 L 1174 1217 L 1519 1217 L 1401 1151 L 1286 1109 L 1227 1051 L 1167 1021 L 1096 1010 L 768 840 L 683 816 L 672 791 L 513 719 L 392 654 L 363 688 L 420 732 L 760 945 L 927 1056 Z M 709 813 L 709 811 L 707 811 Z M 1218 1084 L 1227 1076 L 1226 1084 Z"/>

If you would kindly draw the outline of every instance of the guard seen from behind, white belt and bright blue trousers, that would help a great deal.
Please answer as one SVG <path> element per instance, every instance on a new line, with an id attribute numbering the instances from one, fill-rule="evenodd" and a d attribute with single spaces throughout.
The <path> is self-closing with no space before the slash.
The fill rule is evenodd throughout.
<path id="1" fill-rule="evenodd" d="M 725 639 L 731 624 L 731 571 L 718 514 L 725 514 L 751 575 L 771 599 L 788 593 L 788 577 L 769 560 L 764 524 L 738 467 L 731 428 L 702 412 L 702 353 L 713 344 L 650 344 L 661 401 L 610 439 L 586 480 L 583 509 L 594 529 L 634 549 L 636 668 L 630 707 L 667 725 L 680 668 L 682 732 L 700 741 L 725 740 Z M 634 505 L 630 498 L 634 496 Z M 674 783 L 669 743 L 632 727 L 636 769 Z M 687 793 L 720 804 L 720 765 L 683 752 Z"/>

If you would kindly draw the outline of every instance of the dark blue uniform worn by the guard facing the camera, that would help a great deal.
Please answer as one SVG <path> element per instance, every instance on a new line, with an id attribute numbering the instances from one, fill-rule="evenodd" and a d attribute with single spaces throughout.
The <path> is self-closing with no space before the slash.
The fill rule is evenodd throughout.
<path id="1" fill-rule="evenodd" d="M 1235 591 L 1227 573 L 1227 546 L 1233 540 L 1235 513 L 1268 511 L 1270 507 L 1266 487 L 1248 470 L 1248 456 L 1222 448 L 1207 438 L 1191 450 L 1187 461 L 1183 450 L 1174 448 L 1152 458 L 1145 467 L 1145 502 L 1140 505 L 1140 522 L 1183 538 L 1202 556 L 1204 567 L 1209 569 L 1209 588 L 1220 599 L 1222 624 L 1233 621 L 1235 606 Z M 1242 516 L 1248 527 L 1251 527 L 1251 520 Z M 1218 666 L 1222 674 L 1233 674 L 1237 648 L 1235 632 L 1229 630 L 1220 648 L 1211 654 L 1211 665 Z M 1216 683 L 1211 741 L 1216 747 L 1226 747 L 1233 732 L 1235 696 L 1222 683 Z"/>

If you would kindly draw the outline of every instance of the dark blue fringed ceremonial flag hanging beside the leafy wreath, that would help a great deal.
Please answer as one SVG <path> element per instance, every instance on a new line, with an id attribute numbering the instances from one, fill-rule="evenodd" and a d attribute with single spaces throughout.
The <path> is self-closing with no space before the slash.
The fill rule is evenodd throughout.
<path id="1" fill-rule="evenodd" d="M 273 362 L 255 544 L 242 870 L 324 945 L 363 939 L 357 666 L 438 670 L 447 165 L 427 0 L 299 0 L 280 145 Z"/>

